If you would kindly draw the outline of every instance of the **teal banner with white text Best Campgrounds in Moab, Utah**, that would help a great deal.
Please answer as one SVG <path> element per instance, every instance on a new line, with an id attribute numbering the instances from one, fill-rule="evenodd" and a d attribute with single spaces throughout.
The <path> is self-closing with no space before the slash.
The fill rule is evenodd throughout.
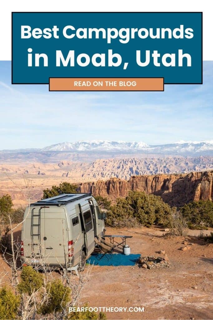
<path id="1" fill-rule="evenodd" d="M 202 83 L 202 12 L 13 12 L 12 83 L 164 77 Z"/>

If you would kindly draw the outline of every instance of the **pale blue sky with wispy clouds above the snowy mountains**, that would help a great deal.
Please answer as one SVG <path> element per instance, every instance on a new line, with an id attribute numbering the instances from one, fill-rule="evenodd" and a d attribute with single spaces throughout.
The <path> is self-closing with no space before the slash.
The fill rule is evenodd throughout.
<path id="1" fill-rule="evenodd" d="M 202 85 L 165 85 L 164 92 L 49 92 L 12 85 L 0 61 L 0 150 L 42 148 L 78 140 L 148 144 L 213 139 L 213 61 Z"/>

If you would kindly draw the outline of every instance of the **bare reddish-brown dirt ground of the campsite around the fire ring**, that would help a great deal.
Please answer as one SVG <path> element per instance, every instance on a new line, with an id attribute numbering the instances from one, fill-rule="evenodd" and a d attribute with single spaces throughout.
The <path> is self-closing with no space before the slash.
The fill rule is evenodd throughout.
<path id="1" fill-rule="evenodd" d="M 199 233 L 189 230 L 186 238 L 164 237 L 163 229 L 156 227 L 107 228 L 106 234 L 133 236 L 127 239 L 131 253 L 159 256 L 156 251 L 164 249 L 171 268 L 93 266 L 82 302 L 92 307 L 144 307 L 137 313 L 107 312 L 107 319 L 212 319 L 213 244 L 199 240 Z M 20 228 L 15 236 L 20 237 Z M 179 250 L 183 240 L 194 244 L 190 250 Z M 9 271 L 3 261 L 1 271 Z"/>

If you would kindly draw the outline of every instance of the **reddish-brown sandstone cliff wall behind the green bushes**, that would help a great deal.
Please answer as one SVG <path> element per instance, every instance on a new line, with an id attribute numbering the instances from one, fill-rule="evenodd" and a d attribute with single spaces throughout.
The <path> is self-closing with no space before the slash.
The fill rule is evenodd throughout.
<path id="1" fill-rule="evenodd" d="M 132 176 L 130 180 L 111 178 L 103 181 L 85 182 L 78 191 L 91 192 L 95 196 L 124 197 L 130 190 L 144 191 L 161 196 L 172 206 L 181 206 L 192 200 L 213 200 L 213 171 L 188 174 L 159 174 Z"/>

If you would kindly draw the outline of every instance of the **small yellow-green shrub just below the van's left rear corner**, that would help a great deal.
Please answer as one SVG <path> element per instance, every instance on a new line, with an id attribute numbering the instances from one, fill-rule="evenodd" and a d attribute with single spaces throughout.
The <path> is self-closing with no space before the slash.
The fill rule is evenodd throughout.
<path id="1" fill-rule="evenodd" d="M 31 295 L 33 291 L 37 291 L 43 285 L 42 274 L 31 266 L 23 266 L 20 278 L 21 281 L 17 286 L 20 293 Z"/>

